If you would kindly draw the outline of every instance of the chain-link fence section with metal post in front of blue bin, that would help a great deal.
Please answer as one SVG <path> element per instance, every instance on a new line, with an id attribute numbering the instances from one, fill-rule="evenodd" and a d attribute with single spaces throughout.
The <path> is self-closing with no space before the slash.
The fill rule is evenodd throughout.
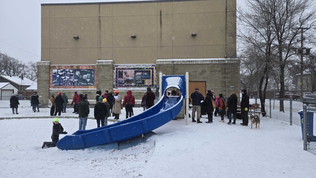
<path id="1" fill-rule="evenodd" d="M 306 104 L 303 106 L 303 146 L 304 150 L 316 155 L 316 107 L 311 106 L 311 102 L 308 104 L 308 107 Z"/>

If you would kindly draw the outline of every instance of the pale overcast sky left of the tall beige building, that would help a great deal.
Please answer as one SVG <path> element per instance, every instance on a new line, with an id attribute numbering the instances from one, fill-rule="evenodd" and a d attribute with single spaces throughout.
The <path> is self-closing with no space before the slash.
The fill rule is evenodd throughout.
<path id="1" fill-rule="evenodd" d="M 0 0 L 0 51 L 25 62 L 40 61 L 41 3 L 110 1 L 127 0 Z M 237 3 L 242 5 L 243 1 L 237 0 Z"/>

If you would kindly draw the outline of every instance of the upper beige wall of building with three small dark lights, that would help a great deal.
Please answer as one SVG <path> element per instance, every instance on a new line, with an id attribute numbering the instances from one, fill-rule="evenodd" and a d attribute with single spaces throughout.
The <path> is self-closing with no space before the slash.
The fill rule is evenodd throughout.
<path id="1" fill-rule="evenodd" d="M 42 4 L 41 60 L 155 64 L 157 59 L 235 57 L 235 11 L 236 0 Z"/>

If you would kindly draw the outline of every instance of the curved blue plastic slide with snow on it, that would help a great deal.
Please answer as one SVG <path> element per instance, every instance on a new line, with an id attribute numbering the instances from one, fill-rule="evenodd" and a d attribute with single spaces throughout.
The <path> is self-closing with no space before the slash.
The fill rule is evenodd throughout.
<path id="1" fill-rule="evenodd" d="M 181 95 L 165 95 L 170 87 L 179 89 Z M 185 76 L 162 76 L 162 91 L 161 100 L 143 113 L 108 126 L 91 130 L 78 130 L 72 135 L 61 138 L 57 142 L 57 148 L 61 150 L 79 150 L 120 142 L 163 126 L 173 120 L 181 111 L 183 98 L 185 98 Z"/>

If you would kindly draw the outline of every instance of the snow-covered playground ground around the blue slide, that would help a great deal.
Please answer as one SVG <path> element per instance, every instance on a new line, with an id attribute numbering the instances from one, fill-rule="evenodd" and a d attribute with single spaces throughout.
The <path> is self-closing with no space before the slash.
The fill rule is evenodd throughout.
<path id="1" fill-rule="evenodd" d="M 77 116 L 70 111 L 62 115 Z M 134 108 L 134 114 L 142 111 Z M 10 108 L 0 113 L 13 116 Z M 261 117 L 258 130 L 241 126 L 241 120 L 218 122 L 220 117 L 189 126 L 172 120 L 154 130 L 158 136 L 129 149 L 65 151 L 41 149 L 51 141 L 52 119 L 27 119 L 48 116 L 48 108 L 40 113 L 19 108 L 19 113 L 15 116 L 26 119 L 0 120 L 0 177 L 316 177 L 316 155 L 303 150 L 301 127 L 276 119 Z M 60 123 L 68 134 L 78 127 L 78 119 Z M 88 120 L 87 129 L 94 127 L 96 121 Z"/>

